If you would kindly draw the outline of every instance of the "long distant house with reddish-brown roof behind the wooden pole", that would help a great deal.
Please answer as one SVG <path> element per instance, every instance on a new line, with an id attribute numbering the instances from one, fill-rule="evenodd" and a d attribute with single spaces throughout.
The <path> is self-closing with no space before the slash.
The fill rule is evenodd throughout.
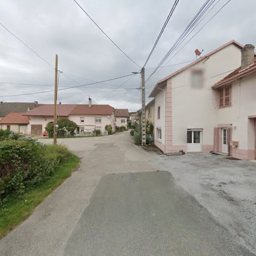
<path id="1" fill-rule="evenodd" d="M 25 113 L 30 119 L 28 125 L 29 134 L 41 135 L 49 122 L 53 122 L 54 105 L 43 104 Z M 76 134 L 87 134 L 95 129 L 105 131 L 105 125 L 111 124 L 115 131 L 114 108 L 110 105 L 92 104 L 57 104 L 57 118 L 68 118 L 74 121 L 78 127 Z"/>

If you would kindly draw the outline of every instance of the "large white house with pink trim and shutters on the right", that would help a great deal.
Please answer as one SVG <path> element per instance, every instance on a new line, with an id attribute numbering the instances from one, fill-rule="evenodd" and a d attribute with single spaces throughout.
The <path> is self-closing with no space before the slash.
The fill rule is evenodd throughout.
<path id="1" fill-rule="evenodd" d="M 255 159 L 253 49 L 229 41 L 158 81 L 150 97 L 155 144 L 165 154 L 214 151 Z"/>

